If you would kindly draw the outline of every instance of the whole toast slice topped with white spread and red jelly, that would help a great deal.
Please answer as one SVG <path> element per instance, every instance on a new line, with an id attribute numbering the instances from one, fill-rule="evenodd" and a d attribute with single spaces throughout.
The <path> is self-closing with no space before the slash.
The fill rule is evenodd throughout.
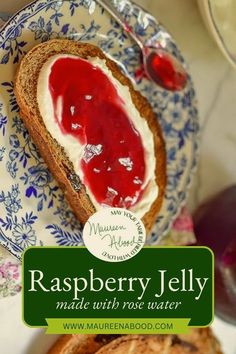
<path id="1" fill-rule="evenodd" d="M 77 218 L 126 208 L 149 232 L 166 186 L 165 144 L 158 117 L 118 65 L 92 44 L 50 40 L 21 60 L 15 95 Z"/>

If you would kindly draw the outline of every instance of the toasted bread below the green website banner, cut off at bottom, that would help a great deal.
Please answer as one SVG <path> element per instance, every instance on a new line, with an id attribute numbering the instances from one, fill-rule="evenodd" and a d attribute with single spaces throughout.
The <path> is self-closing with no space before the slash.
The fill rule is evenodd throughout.
<path id="1" fill-rule="evenodd" d="M 186 335 L 64 335 L 48 354 L 222 354 L 210 328 Z"/>

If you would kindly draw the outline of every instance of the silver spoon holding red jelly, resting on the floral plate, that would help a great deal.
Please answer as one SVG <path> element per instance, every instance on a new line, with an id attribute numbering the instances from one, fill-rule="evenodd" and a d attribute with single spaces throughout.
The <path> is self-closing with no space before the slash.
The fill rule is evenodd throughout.
<path id="1" fill-rule="evenodd" d="M 179 60 L 162 47 L 154 48 L 144 44 L 111 4 L 111 0 L 96 0 L 96 2 L 118 22 L 139 46 L 143 56 L 143 69 L 150 80 L 166 90 L 179 91 L 184 89 L 188 76 Z"/>

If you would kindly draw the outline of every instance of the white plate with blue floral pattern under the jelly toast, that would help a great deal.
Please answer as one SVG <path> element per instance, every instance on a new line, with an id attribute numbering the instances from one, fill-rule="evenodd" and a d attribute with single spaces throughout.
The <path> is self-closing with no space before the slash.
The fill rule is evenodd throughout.
<path id="1" fill-rule="evenodd" d="M 161 43 L 182 62 L 171 36 L 146 11 L 114 0 L 143 41 Z M 12 254 L 33 245 L 80 245 L 81 225 L 64 201 L 19 116 L 13 92 L 20 58 L 36 44 L 68 37 L 101 47 L 145 95 L 161 123 L 167 149 L 165 200 L 149 238 L 156 244 L 170 229 L 191 182 L 198 147 L 198 114 L 189 77 L 183 92 L 167 92 L 142 76 L 137 46 L 94 0 L 37 0 L 0 33 L 0 243 Z"/>

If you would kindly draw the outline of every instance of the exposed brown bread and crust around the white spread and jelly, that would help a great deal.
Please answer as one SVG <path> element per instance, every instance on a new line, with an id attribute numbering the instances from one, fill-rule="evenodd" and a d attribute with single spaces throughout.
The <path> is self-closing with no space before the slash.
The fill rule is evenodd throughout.
<path id="1" fill-rule="evenodd" d="M 143 119 L 146 119 L 153 133 L 156 156 L 155 175 L 159 188 L 158 198 L 143 217 L 144 225 L 149 232 L 160 210 L 166 184 L 165 147 L 161 129 L 148 101 L 134 90 L 131 81 L 98 47 L 66 39 L 55 39 L 34 47 L 23 57 L 16 75 L 15 95 L 20 107 L 21 117 L 32 139 L 64 191 L 75 215 L 82 223 L 85 223 L 96 211 L 95 207 L 86 194 L 85 186 L 80 183 L 78 176 L 75 174 L 73 165 L 66 156 L 64 149 L 47 131 L 37 103 L 37 82 L 40 70 L 44 63 L 56 54 L 76 55 L 83 59 L 97 57 L 105 60 L 106 66 L 111 70 L 114 78 L 129 88 L 136 109 Z"/>

